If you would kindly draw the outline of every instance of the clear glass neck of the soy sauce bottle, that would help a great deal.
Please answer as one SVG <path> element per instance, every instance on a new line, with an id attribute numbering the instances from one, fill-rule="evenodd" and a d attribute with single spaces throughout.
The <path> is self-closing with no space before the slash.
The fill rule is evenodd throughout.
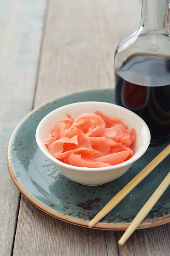
<path id="1" fill-rule="evenodd" d="M 170 0 L 142 0 L 143 32 L 170 34 Z"/>

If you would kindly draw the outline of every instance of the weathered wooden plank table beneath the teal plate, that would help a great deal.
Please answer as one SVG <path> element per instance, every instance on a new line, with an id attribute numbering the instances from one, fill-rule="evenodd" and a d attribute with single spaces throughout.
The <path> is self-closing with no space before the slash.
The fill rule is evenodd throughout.
<path id="1" fill-rule="evenodd" d="M 168 256 L 170 224 L 123 232 L 57 220 L 20 195 L 6 148 L 34 107 L 64 94 L 113 87 L 119 41 L 138 26 L 141 0 L 1 0 L 0 256 Z"/>

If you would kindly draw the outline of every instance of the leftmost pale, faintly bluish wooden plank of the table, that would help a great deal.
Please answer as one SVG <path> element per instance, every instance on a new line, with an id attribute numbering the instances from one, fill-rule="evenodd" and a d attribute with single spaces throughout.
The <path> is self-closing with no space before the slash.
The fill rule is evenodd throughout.
<path id="1" fill-rule="evenodd" d="M 34 8 L 33 8 L 34 6 Z M 20 193 L 6 166 L 14 127 L 33 104 L 45 1 L 0 2 L 0 255 L 11 253 Z"/>

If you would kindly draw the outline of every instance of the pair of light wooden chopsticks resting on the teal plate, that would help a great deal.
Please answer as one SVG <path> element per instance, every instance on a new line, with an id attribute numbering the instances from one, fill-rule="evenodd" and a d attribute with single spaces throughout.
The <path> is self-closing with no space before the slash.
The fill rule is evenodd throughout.
<path id="1" fill-rule="evenodd" d="M 110 212 L 123 198 L 134 188 L 136 187 L 141 180 L 143 180 L 152 170 L 164 160 L 165 157 L 170 154 L 170 144 L 163 150 L 161 153 L 155 157 L 141 172 L 139 172 L 136 177 L 134 177 L 122 190 L 119 191 L 112 199 L 105 205 L 105 207 L 89 222 L 88 227 L 93 227 L 101 218 L 103 218 L 108 212 Z M 121 239 L 119 240 L 118 244 L 123 245 L 125 241 L 130 237 L 134 230 L 139 226 L 139 224 L 143 221 L 146 217 L 148 212 L 153 208 L 156 202 L 159 200 L 161 195 L 170 185 L 170 172 L 161 182 L 159 187 L 153 193 L 153 195 L 149 198 L 149 200 L 144 204 L 142 209 L 133 219 L 130 226 L 127 228 Z"/>

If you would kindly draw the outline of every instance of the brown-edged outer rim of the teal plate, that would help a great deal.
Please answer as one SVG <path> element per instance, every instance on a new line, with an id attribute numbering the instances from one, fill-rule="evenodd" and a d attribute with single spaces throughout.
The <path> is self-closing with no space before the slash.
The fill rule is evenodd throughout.
<path id="1" fill-rule="evenodd" d="M 25 122 L 25 120 L 28 119 L 31 116 L 32 113 L 35 113 L 40 108 L 45 107 L 45 105 L 49 105 L 51 102 L 54 102 L 54 101 L 56 101 L 58 99 L 65 98 L 67 96 L 72 96 L 74 94 L 85 93 L 85 92 L 92 92 L 92 91 L 103 91 L 103 90 L 111 90 L 111 89 L 109 88 L 109 89 L 99 89 L 99 90 L 88 90 L 88 91 L 81 91 L 81 92 L 77 92 L 77 93 L 66 94 L 66 95 L 60 96 L 58 98 L 51 99 L 50 101 L 41 104 L 37 108 L 34 108 L 32 111 L 30 111 L 18 123 L 18 125 L 14 129 L 13 133 L 11 134 L 11 137 L 10 137 L 10 140 L 9 140 L 9 143 L 8 143 L 8 147 L 7 147 L 7 166 L 8 166 L 8 171 L 9 171 L 9 173 L 11 175 L 11 178 L 14 181 L 15 185 L 20 190 L 20 192 L 25 196 L 25 198 L 27 198 L 28 201 L 30 201 L 32 204 L 34 204 L 37 208 L 39 208 L 43 212 L 45 212 L 45 213 L 47 213 L 47 214 L 49 214 L 49 215 L 51 215 L 51 216 L 53 216 L 55 218 L 58 218 L 58 219 L 60 219 L 62 221 L 65 221 L 65 222 L 68 222 L 68 223 L 71 223 L 71 224 L 74 224 L 74 225 L 78 225 L 78 226 L 81 226 L 81 227 L 88 227 L 89 221 L 85 221 L 85 220 L 81 220 L 81 219 L 78 219 L 78 218 L 70 217 L 68 215 L 65 215 L 65 214 L 62 214 L 60 212 L 57 212 L 54 209 L 51 209 L 50 207 L 46 206 L 42 202 L 38 201 L 32 195 L 30 195 L 29 192 L 22 186 L 20 181 L 15 176 L 14 170 L 13 170 L 13 167 L 12 167 L 12 163 L 10 162 L 11 142 L 12 142 L 13 138 L 15 137 L 16 132 L 18 131 L 20 126 L 23 124 L 23 122 Z M 170 222 L 170 216 L 168 216 L 168 217 L 161 217 L 161 218 L 158 218 L 157 220 L 152 220 L 151 219 L 150 221 L 142 221 L 142 223 L 139 225 L 139 227 L 137 229 L 156 227 L 156 226 L 159 226 L 159 225 L 162 225 L 162 224 L 167 224 L 169 222 Z M 130 223 L 129 224 L 97 223 L 92 228 L 93 229 L 100 229 L 100 230 L 126 230 L 129 227 L 129 225 L 130 225 Z"/>

